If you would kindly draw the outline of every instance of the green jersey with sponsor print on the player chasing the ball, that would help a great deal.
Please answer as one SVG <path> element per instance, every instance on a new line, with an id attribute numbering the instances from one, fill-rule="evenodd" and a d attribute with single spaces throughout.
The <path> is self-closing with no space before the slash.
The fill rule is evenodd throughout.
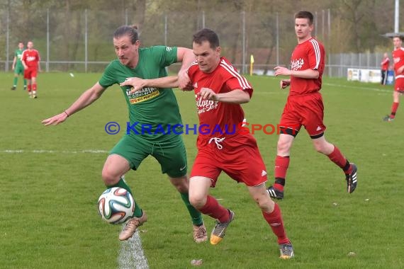
<path id="1" fill-rule="evenodd" d="M 176 47 L 145 47 L 139 49 L 138 65 L 132 69 L 113 60 L 106 67 L 99 84 L 108 88 L 130 76 L 157 79 L 167 76 L 165 67 L 177 62 Z M 130 94 L 132 86 L 120 87 L 129 109 L 126 134 L 149 141 L 162 141 L 182 132 L 181 115 L 172 88 L 145 87 Z"/>

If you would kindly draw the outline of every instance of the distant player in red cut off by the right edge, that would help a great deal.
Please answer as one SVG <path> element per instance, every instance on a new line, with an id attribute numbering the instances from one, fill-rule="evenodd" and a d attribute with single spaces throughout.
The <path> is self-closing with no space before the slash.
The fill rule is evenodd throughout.
<path id="1" fill-rule="evenodd" d="M 400 95 L 404 93 L 404 48 L 401 47 L 403 40 L 400 36 L 393 38 L 393 64 L 394 64 L 394 91 L 393 91 L 393 105 L 391 105 L 391 114 L 383 118 L 386 122 L 391 122 L 395 118 L 398 105 L 400 104 Z"/>

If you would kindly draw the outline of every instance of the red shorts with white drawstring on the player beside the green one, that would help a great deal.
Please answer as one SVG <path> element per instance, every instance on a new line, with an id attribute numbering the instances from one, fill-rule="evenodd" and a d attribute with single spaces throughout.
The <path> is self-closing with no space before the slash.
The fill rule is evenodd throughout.
<path id="1" fill-rule="evenodd" d="M 222 149 L 218 149 L 219 145 Z M 215 141 L 198 149 L 193 163 L 191 177 L 211 178 L 212 187 L 221 171 L 238 183 L 252 187 L 266 182 L 266 168 L 257 147 L 257 140 L 250 134 L 226 137 L 222 142 Z"/>

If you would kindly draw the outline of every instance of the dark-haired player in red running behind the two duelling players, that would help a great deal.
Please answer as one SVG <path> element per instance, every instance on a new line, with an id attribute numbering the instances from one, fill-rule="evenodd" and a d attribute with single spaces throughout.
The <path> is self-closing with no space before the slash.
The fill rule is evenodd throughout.
<path id="1" fill-rule="evenodd" d="M 323 124 L 324 106 L 320 94 L 322 71 L 325 67 L 323 45 L 312 38 L 313 14 L 299 11 L 295 15 L 295 32 L 298 45 L 291 56 L 291 69 L 275 67 L 275 76 L 290 76 L 282 79 L 281 88 L 291 86 L 284 113 L 279 125 L 281 134 L 275 159 L 275 183 L 268 188 L 272 198 L 284 198 L 286 171 L 288 169 L 293 141 L 302 125 L 310 135 L 315 149 L 328 156 L 345 173 L 347 191 L 357 188 L 357 166 L 349 163 L 334 144 L 325 140 Z"/>

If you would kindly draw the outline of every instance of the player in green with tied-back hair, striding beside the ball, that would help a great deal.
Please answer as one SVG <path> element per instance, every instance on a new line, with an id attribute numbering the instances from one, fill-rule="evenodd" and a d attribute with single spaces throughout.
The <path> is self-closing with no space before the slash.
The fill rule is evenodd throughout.
<path id="1" fill-rule="evenodd" d="M 69 108 L 43 120 L 45 126 L 64 122 L 70 115 L 96 101 L 106 88 L 120 84 L 128 77 L 156 79 L 167 76 L 165 67 L 175 62 L 182 62 L 179 71 L 181 87 L 189 84 L 186 68 L 195 59 L 192 50 L 166 46 L 140 48 L 136 28 L 126 25 L 115 31 L 113 46 L 118 59 L 108 64 L 101 79 Z M 127 134 L 113 147 L 106 159 L 102 171 L 103 182 L 107 188 L 120 187 L 132 193 L 123 176 L 130 169 L 138 169 L 142 160 L 152 155 L 159 161 L 162 173 L 167 173 L 189 210 L 193 223 L 193 239 L 197 243 L 206 241 L 206 228 L 201 213 L 189 202 L 186 150 L 181 135 L 177 135 L 181 133 L 181 115 L 172 89 L 150 87 L 130 93 L 131 86 L 120 88 L 128 105 L 130 122 Z M 120 232 L 119 239 L 130 239 L 146 221 L 145 212 L 135 201 L 133 217 Z"/>

